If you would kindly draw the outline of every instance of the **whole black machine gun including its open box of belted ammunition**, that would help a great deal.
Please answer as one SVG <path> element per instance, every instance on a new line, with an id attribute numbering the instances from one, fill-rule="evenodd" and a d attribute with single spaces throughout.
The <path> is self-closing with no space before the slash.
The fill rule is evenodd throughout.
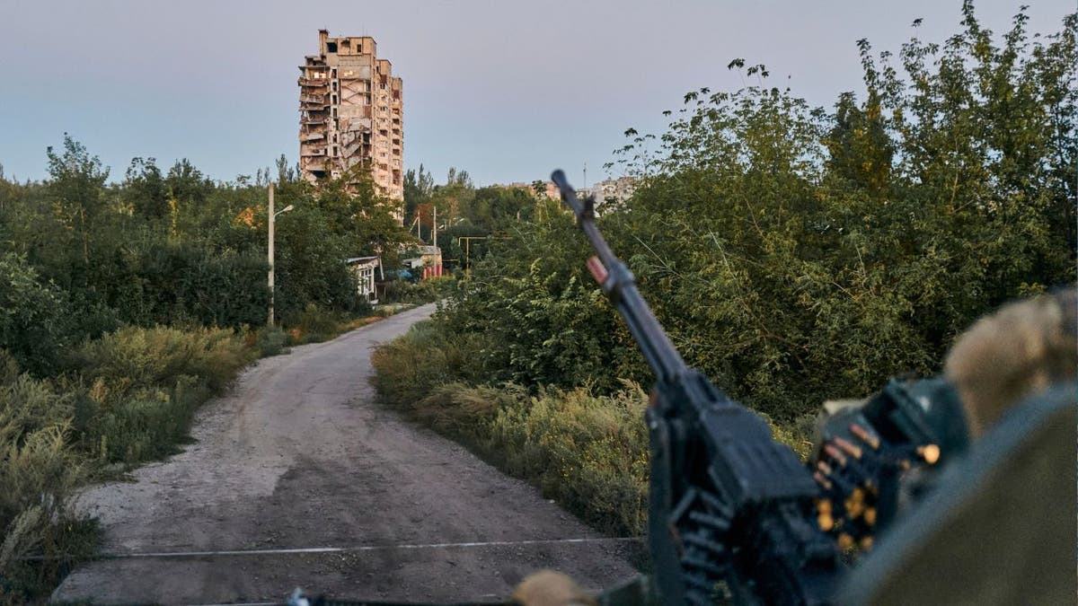
<path id="1" fill-rule="evenodd" d="M 721 581 L 737 604 L 831 603 L 846 563 L 967 451 L 953 386 L 892 380 L 831 411 L 806 468 L 759 416 L 685 363 L 599 233 L 594 199 L 579 199 L 561 170 L 551 179 L 596 251 L 592 276 L 655 374 L 648 540 L 659 598 L 709 603 Z"/>

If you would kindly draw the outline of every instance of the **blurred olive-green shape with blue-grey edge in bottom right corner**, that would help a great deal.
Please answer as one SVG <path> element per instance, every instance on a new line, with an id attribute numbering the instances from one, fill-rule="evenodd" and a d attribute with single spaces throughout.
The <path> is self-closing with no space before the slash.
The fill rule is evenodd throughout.
<path id="1" fill-rule="evenodd" d="M 1074 604 L 1074 382 L 1017 404 L 854 569 L 839 604 Z"/>

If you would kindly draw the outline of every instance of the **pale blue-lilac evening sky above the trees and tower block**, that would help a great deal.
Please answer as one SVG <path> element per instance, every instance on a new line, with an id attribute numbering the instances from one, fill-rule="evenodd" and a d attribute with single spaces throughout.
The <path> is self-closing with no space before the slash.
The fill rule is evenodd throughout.
<path id="1" fill-rule="evenodd" d="M 1075 0 L 978 2 L 983 26 L 1053 33 Z M 855 42 L 898 52 L 959 30 L 960 0 L 0 0 L 0 164 L 46 177 L 64 133 L 122 180 L 134 156 L 213 179 L 299 152 L 296 66 L 318 29 L 371 36 L 404 80 L 404 164 L 479 185 L 564 168 L 578 187 L 622 133 L 661 134 L 686 92 L 743 85 L 734 58 L 831 108 L 861 91 Z M 586 164 L 586 181 L 584 166 Z M 618 176 L 617 174 L 612 176 Z"/>

